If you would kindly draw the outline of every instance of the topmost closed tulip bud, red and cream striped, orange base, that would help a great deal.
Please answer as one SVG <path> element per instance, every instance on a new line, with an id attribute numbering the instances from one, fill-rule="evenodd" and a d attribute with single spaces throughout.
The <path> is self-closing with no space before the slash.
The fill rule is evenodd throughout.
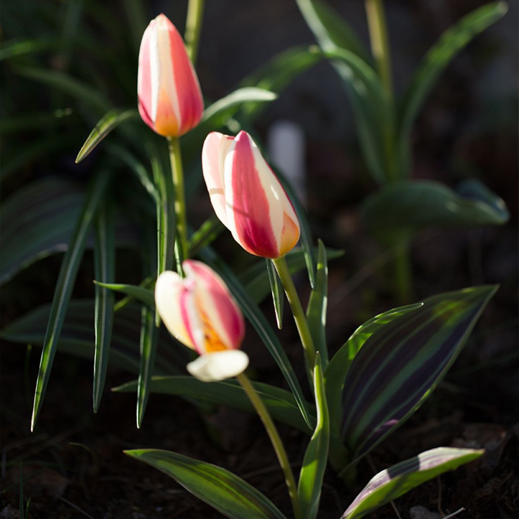
<path id="1" fill-rule="evenodd" d="M 143 121 L 160 135 L 184 135 L 200 122 L 198 78 L 182 36 L 165 15 L 149 22 L 142 36 L 137 91 Z"/>

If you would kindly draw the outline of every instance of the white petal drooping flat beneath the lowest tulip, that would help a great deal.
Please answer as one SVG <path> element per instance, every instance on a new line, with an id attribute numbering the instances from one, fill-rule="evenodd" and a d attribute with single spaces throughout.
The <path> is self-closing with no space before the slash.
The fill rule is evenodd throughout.
<path id="1" fill-rule="evenodd" d="M 226 350 L 201 355 L 189 362 L 186 368 L 202 382 L 217 382 L 243 373 L 248 365 L 247 353 L 241 350 Z"/>

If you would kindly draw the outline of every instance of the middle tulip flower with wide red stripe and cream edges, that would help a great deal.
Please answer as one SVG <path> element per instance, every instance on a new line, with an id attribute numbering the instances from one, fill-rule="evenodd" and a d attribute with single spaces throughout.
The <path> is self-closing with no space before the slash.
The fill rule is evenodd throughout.
<path id="1" fill-rule="evenodd" d="M 216 216 L 256 256 L 278 258 L 299 239 L 294 207 L 251 136 L 212 132 L 202 170 Z"/>

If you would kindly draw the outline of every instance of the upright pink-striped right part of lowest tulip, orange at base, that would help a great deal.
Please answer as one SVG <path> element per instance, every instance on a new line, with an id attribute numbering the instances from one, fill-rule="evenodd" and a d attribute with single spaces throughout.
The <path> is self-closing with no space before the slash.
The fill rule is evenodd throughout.
<path id="1" fill-rule="evenodd" d="M 197 340 L 197 351 L 209 353 L 239 348 L 245 324 L 222 278 L 198 261 L 186 260 L 183 268 L 187 277 L 194 280 L 195 306 L 204 331 L 204 343 Z"/>

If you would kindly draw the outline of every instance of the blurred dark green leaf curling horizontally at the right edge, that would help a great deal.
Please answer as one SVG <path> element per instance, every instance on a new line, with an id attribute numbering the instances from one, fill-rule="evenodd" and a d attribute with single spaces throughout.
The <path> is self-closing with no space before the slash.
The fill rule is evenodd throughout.
<path id="1" fill-rule="evenodd" d="M 365 200 L 362 217 L 375 236 L 391 242 L 394 236 L 412 236 L 429 226 L 501 225 L 509 214 L 504 202 L 489 191 L 485 198 L 464 197 L 424 180 L 383 187 Z"/>

